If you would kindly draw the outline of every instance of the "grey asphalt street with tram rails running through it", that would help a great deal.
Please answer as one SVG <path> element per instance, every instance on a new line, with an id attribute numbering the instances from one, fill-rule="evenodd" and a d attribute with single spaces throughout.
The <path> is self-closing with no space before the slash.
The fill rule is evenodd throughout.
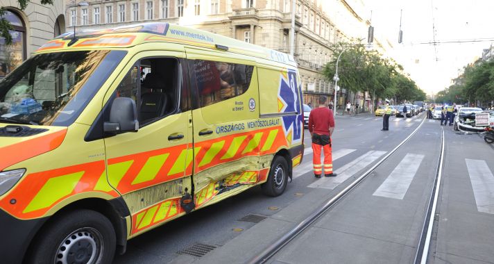
<path id="1" fill-rule="evenodd" d="M 337 117 L 334 170 L 316 179 L 305 133 L 303 163 L 280 197 L 260 188 L 208 206 L 128 242 L 114 263 L 246 263 L 298 224 L 391 151 L 423 122 L 391 117 Z M 390 156 L 347 197 L 292 240 L 268 263 L 411 263 L 432 190 L 445 130 L 445 171 L 429 254 L 432 263 L 493 263 L 494 154 L 478 135 L 426 119 L 416 135 Z M 241 221 L 246 215 L 266 219 Z M 196 243 L 211 246 L 204 256 L 178 254 Z"/>

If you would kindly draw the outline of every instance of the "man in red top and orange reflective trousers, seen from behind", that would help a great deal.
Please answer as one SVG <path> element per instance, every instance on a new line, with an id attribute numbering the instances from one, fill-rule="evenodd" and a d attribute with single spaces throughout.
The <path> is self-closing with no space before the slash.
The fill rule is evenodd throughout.
<path id="1" fill-rule="evenodd" d="M 334 131 L 333 111 L 327 108 L 327 98 L 319 97 L 319 106 L 312 109 L 309 115 L 309 132 L 312 136 L 312 163 L 314 165 L 314 176 L 321 178 L 324 176 L 337 176 L 333 173 L 333 160 L 331 155 L 331 135 Z M 321 164 L 321 148 L 324 151 L 324 170 Z"/>

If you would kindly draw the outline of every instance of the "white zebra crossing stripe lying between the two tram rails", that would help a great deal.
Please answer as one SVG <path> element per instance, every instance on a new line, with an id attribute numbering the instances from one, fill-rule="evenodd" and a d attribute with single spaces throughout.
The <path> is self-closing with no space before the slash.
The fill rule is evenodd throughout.
<path id="1" fill-rule="evenodd" d="M 388 178 L 375 190 L 373 195 L 403 199 L 423 158 L 424 155 L 420 154 L 405 155 L 398 166 L 395 167 L 395 170 L 389 174 Z"/>

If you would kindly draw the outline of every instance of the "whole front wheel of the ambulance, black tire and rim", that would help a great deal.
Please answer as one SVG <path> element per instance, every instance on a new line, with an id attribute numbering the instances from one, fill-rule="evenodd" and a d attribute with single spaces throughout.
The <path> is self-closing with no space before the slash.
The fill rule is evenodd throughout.
<path id="1" fill-rule="evenodd" d="M 60 215 L 44 226 L 26 255 L 31 256 L 28 263 L 112 263 L 115 247 L 110 220 L 84 209 Z"/>

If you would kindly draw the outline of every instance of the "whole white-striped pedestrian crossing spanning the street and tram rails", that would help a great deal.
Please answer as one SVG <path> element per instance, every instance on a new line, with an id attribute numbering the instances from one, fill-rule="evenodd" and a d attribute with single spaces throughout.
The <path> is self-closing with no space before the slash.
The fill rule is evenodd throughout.
<path id="1" fill-rule="evenodd" d="M 333 161 L 347 156 L 349 154 L 355 154 L 357 149 L 339 149 L 332 154 Z M 334 173 L 338 174 L 336 177 L 322 177 L 316 179 L 312 183 L 307 185 L 307 188 L 323 188 L 333 190 L 337 188 L 341 183 L 350 179 L 352 176 L 358 176 L 359 172 L 364 170 L 368 165 L 371 165 L 376 160 L 384 156 L 387 151 L 367 151 L 365 154 L 354 158 L 352 161 L 343 165 Z M 305 162 L 293 170 L 293 179 L 302 176 L 303 174 L 310 173 L 312 176 L 312 149 L 306 148 L 304 154 Z M 414 177 L 417 175 L 420 165 L 425 160 L 425 155 L 407 153 L 404 158 L 396 165 L 389 176 L 384 179 L 379 187 L 373 192 L 374 197 L 384 197 L 386 199 L 404 199 L 409 187 L 414 181 Z M 468 176 L 472 183 L 473 197 L 475 197 L 475 204 L 477 211 L 481 213 L 494 214 L 494 174 L 488 167 L 486 160 L 475 160 L 466 158 L 465 163 L 468 170 Z"/>

